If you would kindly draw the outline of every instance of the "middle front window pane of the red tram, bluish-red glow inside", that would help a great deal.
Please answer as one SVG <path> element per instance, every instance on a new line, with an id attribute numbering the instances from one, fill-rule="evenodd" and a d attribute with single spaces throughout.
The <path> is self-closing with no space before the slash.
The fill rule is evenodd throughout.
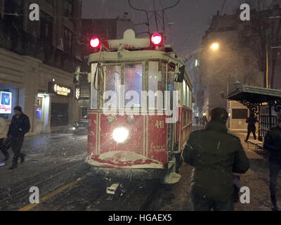
<path id="1" fill-rule="evenodd" d="M 124 85 L 125 85 L 125 95 L 128 93 L 128 91 L 130 91 L 130 93 L 136 91 L 134 96 L 131 96 L 131 99 L 125 98 L 125 105 L 133 101 L 134 106 L 140 107 L 141 91 L 143 90 L 143 65 L 142 64 L 133 64 L 133 65 L 125 66 Z M 138 96 L 136 96 L 136 94 L 138 94 Z"/>

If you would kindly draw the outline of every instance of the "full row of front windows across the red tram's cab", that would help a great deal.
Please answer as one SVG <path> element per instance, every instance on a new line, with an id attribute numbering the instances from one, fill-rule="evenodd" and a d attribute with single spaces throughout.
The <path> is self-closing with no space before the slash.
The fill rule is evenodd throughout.
<path id="1" fill-rule="evenodd" d="M 108 101 L 115 100 L 112 98 L 117 98 L 118 102 L 122 88 L 124 107 L 143 107 L 142 91 L 148 91 L 148 94 L 154 93 L 153 99 L 148 98 L 149 108 L 157 109 L 159 105 L 163 108 L 163 91 L 174 90 L 174 74 L 168 77 L 167 63 L 159 60 L 103 65 L 93 63 L 91 68 L 91 108 L 103 108 Z M 117 108 L 122 107 L 119 102 L 116 105 Z"/>

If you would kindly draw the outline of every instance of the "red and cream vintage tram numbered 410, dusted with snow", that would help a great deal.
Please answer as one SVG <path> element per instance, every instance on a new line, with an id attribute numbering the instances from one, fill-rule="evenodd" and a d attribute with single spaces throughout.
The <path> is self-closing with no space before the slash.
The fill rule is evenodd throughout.
<path id="1" fill-rule="evenodd" d="M 183 60 L 163 42 L 162 34 L 136 38 L 133 30 L 124 39 L 91 39 L 86 163 L 98 174 L 180 179 L 179 155 L 192 126 L 192 84 Z M 168 102 L 176 108 L 173 115 L 166 113 Z M 166 122 L 171 117 L 176 120 Z"/>

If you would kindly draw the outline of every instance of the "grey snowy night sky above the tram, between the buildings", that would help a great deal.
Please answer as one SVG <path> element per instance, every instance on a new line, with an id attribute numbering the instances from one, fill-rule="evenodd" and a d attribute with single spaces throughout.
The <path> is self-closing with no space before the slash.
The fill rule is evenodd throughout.
<path id="1" fill-rule="evenodd" d="M 134 11 L 128 3 L 128 0 L 82 0 L 83 18 L 117 18 L 123 17 L 124 12 L 128 12 L 128 18 L 133 23 L 145 22 L 145 13 Z M 177 0 L 155 0 L 157 9 L 171 6 Z M 131 0 L 136 8 L 153 9 L 152 0 Z M 240 0 L 226 0 L 223 8 L 223 14 L 235 13 Z M 211 16 L 221 11 L 223 0 L 181 0 L 176 7 L 166 11 L 166 44 L 172 44 L 178 56 L 183 58 L 195 53 L 200 46 L 204 31 L 207 30 L 211 22 Z M 155 24 L 155 20 L 151 20 Z M 147 27 L 138 26 L 138 31 L 147 31 Z"/>

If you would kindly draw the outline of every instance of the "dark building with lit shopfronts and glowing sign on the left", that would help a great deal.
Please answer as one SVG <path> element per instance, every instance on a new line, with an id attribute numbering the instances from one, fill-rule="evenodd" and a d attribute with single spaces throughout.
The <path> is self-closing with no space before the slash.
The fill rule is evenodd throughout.
<path id="1" fill-rule="evenodd" d="M 29 18 L 34 3 L 39 21 Z M 20 105 L 30 117 L 29 135 L 77 121 L 73 73 L 83 64 L 81 0 L 1 0 L 0 5 L 0 91 L 11 99 L 0 116 L 9 123 L 13 107 Z"/>

